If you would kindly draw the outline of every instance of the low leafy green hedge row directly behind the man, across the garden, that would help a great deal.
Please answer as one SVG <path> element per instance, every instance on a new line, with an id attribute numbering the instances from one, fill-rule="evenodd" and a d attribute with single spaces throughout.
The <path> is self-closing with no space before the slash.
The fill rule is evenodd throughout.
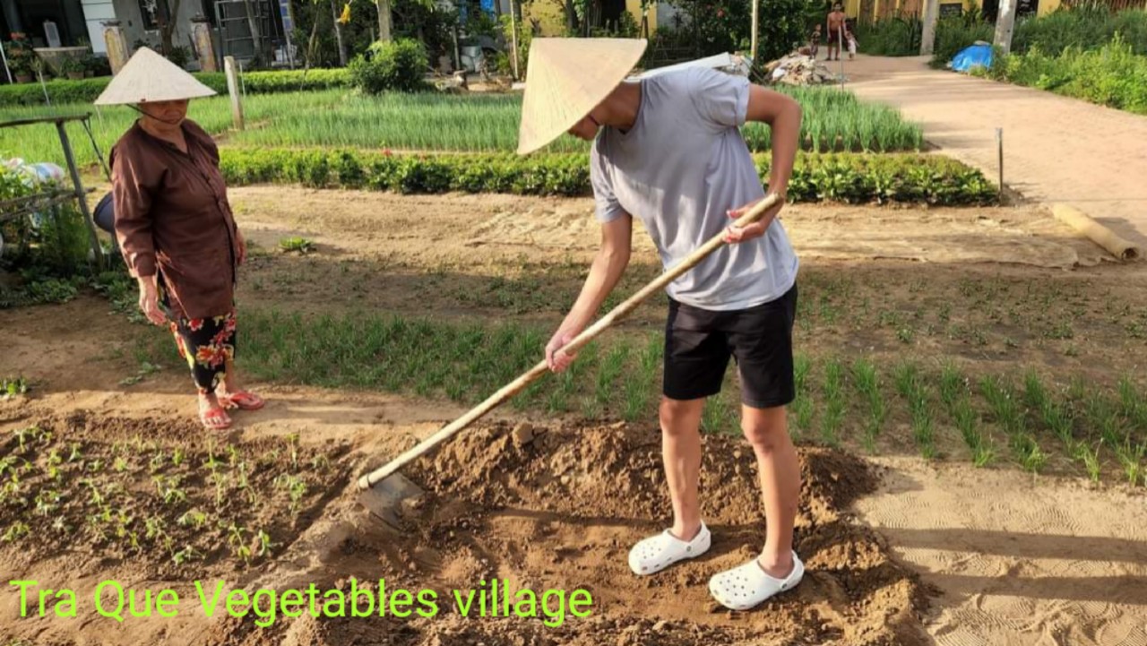
<path id="1" fill-rule="evenodd" d="M 764 181 L 767 154 L 755 157 Z M 390 155 L 358 150 L 224 148 L 221 168 L 235 186 L 303 184 L 399 193 L 591 195 L 585 154 Z M 789 182 L 795 202 L 990 204 L 996 187 L 954 159 L 930 155 L 802 154 Z"/>

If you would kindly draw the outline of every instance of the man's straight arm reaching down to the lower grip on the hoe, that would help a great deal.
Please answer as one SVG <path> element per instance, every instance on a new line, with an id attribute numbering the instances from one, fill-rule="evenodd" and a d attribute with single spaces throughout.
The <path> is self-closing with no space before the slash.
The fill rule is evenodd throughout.
<path id="1" fill-rule="evenodd" d="M 633 218 L 629 215 L 614 218 L 601 225 L 601 248 L 590 266 L 590 275 L 582 286 L 582 294 L 565 316 L 561 327 L 546 344 L 546 363 L 549 369 L 562 372 L 569 367 L 574 356 L 561 348 L 585 329 L 609 293 L 617 286 L 625 267 L 630 264 L 633 249 Z"/>

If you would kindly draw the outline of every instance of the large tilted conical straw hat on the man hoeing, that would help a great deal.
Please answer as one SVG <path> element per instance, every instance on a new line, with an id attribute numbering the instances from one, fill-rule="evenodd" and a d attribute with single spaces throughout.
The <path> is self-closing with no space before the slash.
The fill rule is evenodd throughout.
<path id="1" fill-rule="evenodd" d="M 574 127 L 625 80 L 646 45 L 634 38 L 535 38 L 517 153 L 532 153 Z"/>

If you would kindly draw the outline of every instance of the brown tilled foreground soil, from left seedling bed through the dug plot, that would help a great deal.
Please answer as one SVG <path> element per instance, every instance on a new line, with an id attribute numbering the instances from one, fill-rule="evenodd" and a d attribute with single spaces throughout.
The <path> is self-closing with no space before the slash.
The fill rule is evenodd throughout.
<path id="1" fill-rule="evenodd" d="M 5 412 L 11 419 L 11 407 Z M 311 489 L 301 501 L 302 513 L 288 521 L 284 514 L 276 517 L 273 513 L 275 505 L 280 509 L 286 505 L 283 496 L 275 497 L 272 483 L 276 474 L 296 473 L 289 443 L 264 437 L 205 449 L 193 429 L 172 420 L 95 414 L 60 419 L 37 412 L 19 425 L 29 422 L 50 436 L 30 437 L 19 449 L 8 434 L 6 452 L 32 465 L 23 478 L 23 496 L 45 499 L 44 493 L 54 487 L 47 475 L 48 456 L 79 446 L 83 457 L 65 459 L 61 483 L 94 480 L 95 485 L 88 487 L 107 493 L 112 491 L 109 483 L 118 482 L 123 491 L 133 492 L 122 500 L 109 493 L 115 511 L 108 526 L 136 530 L 142 545 L 134 550 L 115 531 L 96 538 L 99 521 L 88 519 L 99 515 L 100 505 L 87 498 L 85 489 L 61 488 L 63 506 L 48 515 L 38 513 L 31 503 L 6 500 L 0 511 L 3 526 L 26 522 L 31 529 L 29 536 L 0 548 L 0 573 L 6 581 L 19 576 L 58 582 L 58 586 L 67 582 L 81 598 L 89 598 L 95 582 L 116 578 L 136 590 L 171 586 L 181 597 L 194 598 L 192 579 L 209 585 L 223 579 L 228 587 L 250 591 L 284 591 L 310 583 L 320 590 L 345 589 L 346 581 L 357 577 L 382 578 L 390 590 L 435 590 L 443 600 L 440 614 L 432 618 L 314 620 L 304 615 L 266 630 L 253 624 L 255 617 L 206 621 L 192 612 L 177 621 L 128 617 L 118 625 L 84 613 L 79 625 L 54 616 L 3 623 L 10 637 L 37 644 L 140 644 L 161 638 L 169 644 L 220 645 L 927 643 L 920 622 L 926 607 L 923 587 L 910 570 L 889 560 L 875 532 L 843 512 L 875 484 L 860 460 L 843 453 L 802 453 L 797 548 L 809 568 L 805 583 L 788 598 L 751 614 L 733 615 L 711 602 L 705 582 L 715 571 L 752 558 L 762 527 L 751 452 L 728 438 L 707 439 L 702 485 L 705 514 L 716 536 L 712 551 L 662 576 L 639 579 L 627 573 L 627 546 L 660 531 L 657 520 L 669 511 L 657 436 L 650 428 L 508 423 L 475 428 L 408 470 L 427 492 L 405 509 L 403 527 L 396 531 L 357 505 L 356 485 L 349 477 L 352 467 L 361 469 L 377 458 L 348 454 L 343 444 L 299 446 L 297 460 L 305 466 L 298 473 L 306 474 Z M 149 460 L 154 450 L 130 445 L 139 438 L 167 447 L 169 456 L 185 447 L 186 459 L 172 466 L 169 458 L 156 467 Z M 398 433 L 382 444 L 397 451 L 408 441 Z M 219 469 L 228 475 L 236 468 L 234 461 L 228 466 L 228 454 L 240 456 L 240 465 L 251 460 L 252 503 L 242 499 L 244 490 L 231 477 L 223 485 L 223 498 L 216 497 L 212 476 L 203 475 L 211 452 L 219 454 Z M 124 470 L 92 466 L 102 457 L 111 467 L 114 456 L 125 457 Z M 322 468 L 314 467 L 319 456 L 327 460 Z M 85 473 L 96 475 L 81 480 Z M 181 476 L 186 498 L 167 500 L 153 493 L 150 481 L 157 474 L 161 478 Z M 163 540 L 153 540 L 150 526 L 143 537 L 145 517 L 185 517 L 196 509 L 209 519 L 202 528 L 169 524 L 169 531 L 174 547 L 195 545 L 197 557 L 175 563 Z M 225 519 L 221 524 L 250 528 L 252 534 L 262 527 L 273 546 L 260 554 L 256 544 L 244 563 L 233 555 L 237 546 L 229 532 L 213 527 L 216 517 Z M 515 592 L 530 589 L 539 596 L 548 589 L 570 594 L 585 590 L 592 598 L 592 614 L 585 618 L 567 615 L 561 625 L 546 625 L 544 613 L 537 618 L 466 618 L 446 601 L 451 591 L 468 591 L 492 578 Z M 2 606 L 6 616 L 14 616 L 15 596 L 6 596 Z M 552 617 L 548 621 L 556 623 Z"/>

